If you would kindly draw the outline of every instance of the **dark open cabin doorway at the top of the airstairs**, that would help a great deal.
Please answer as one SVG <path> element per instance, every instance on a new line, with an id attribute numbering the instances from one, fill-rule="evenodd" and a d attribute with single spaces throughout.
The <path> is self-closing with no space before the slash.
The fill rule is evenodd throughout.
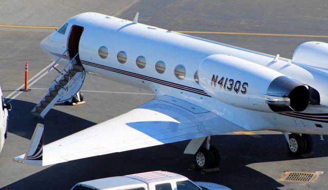
<path id="1" fill-rule="evenodd" d="M 78 46 L 81 35 L 83 33 L 84 28 L 81 26 L 73 25 L 67 40 L 68 54 L 72 59 L 78 53 Z M 79 55 L 76 56 L 76 61 L 80 64 Z"/>

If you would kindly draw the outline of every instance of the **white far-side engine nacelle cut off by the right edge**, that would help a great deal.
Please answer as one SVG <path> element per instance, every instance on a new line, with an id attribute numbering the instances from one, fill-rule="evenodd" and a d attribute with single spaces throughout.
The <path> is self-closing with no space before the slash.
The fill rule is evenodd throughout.
<path id="1" fill-rule="evenodd" d="M 308 41 L 299 45 L 293 54 L 293 61 L 325 64 L 328 67 L 328 44 L 319 41 Z M 315 66 L 315 64 L 310 64 Z"/>

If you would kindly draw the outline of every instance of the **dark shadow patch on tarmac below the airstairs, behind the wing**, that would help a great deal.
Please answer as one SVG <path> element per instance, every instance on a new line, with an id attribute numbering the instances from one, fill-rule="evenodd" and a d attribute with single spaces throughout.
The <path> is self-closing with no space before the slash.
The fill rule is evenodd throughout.
<path id="1" fill-rule="evenodd" d="M 31 139 L 35 125 L 42 123 L 45 125 L 45 144 L 96 124 L 55 109 L 51 109 L 45 119 L 36 118 L 31 113 L 31 110 L 36 105 L 35 103 L 15 99 L 10 103 L 12 110 L 9 112 L 8 132 Z M 60 105 L 65 106 L 64 104 Z"/>

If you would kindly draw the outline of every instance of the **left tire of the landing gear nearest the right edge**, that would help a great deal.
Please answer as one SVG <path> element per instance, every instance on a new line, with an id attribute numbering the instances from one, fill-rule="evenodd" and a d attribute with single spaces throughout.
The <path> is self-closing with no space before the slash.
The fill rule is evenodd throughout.
<path id="1" fill-rule="evenodd" d="M 295 133 L 289 135 L 290 144 L 287 143 L 288 153 L 293 156 L 299 156 L 304 153 L 305 143 L 303 138 Z"/>

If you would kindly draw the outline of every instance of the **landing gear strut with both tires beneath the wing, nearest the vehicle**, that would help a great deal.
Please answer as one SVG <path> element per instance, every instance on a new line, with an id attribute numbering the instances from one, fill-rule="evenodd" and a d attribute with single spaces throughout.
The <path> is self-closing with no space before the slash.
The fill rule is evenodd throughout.
<path id="1" fill-rule="evenodd" d="M 220 164 L 220 153 L 214 146 L 210 146 L 210 137 L 204 141 L 204 146 L 200 146 L 194 155 L 195 165 L 200 168 L 218 167 Z"/>

